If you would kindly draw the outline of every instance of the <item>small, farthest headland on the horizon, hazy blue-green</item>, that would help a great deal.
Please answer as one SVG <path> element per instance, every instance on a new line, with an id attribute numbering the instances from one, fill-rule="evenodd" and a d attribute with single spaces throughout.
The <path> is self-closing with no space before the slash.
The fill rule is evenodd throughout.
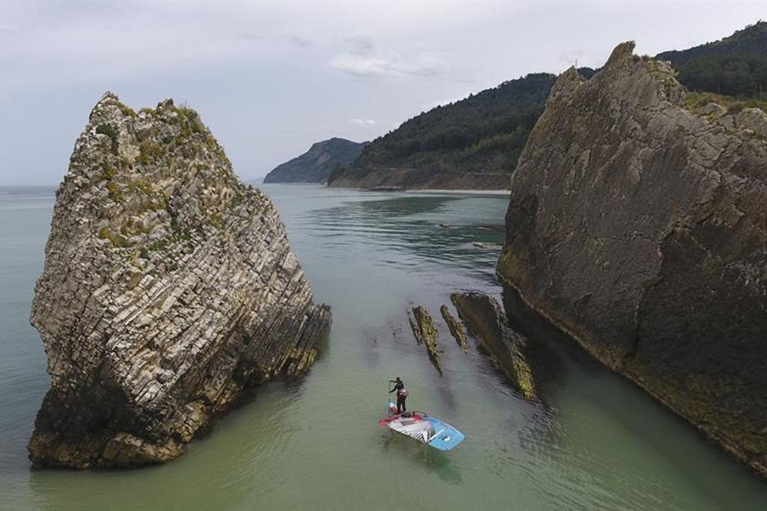
<path id="1" fill-rule="evenodd" d="M 277 165 L 264 178 L 265 183 L 324 183 L 328 175 L 360 156 L 367 142 L 333 138 L 316 142 L 307 152 Z"/>

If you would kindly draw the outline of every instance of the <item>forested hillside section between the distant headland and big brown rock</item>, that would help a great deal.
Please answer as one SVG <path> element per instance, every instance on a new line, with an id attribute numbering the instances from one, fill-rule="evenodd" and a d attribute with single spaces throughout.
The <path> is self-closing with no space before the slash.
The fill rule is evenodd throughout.
<path id="1" fill-rule="evenodd" d="M 505 188 L 555 79 L 554 74 L 528 74 L 436 106 L 370 142 L 350 167 L 338 169 L 328 182 L 453 188 L 450 183 L 459 174 L 469 174 L 475 177 L 460 179 L 469 188 L 475 188 L 475 180 L 485 183 L 479 188 Z"/>

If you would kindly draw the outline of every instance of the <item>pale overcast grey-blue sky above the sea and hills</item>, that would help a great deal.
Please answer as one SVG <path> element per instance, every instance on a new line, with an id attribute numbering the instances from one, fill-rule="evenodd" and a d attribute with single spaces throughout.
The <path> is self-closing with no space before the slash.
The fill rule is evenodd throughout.
<path id="1" fill-rule="evenodd" d="M 256 179 L 505 80 L 715 41 L 764 2 L 8 2 L 0 185 L 57 185 L 106 90 L 196 109 Z"/>

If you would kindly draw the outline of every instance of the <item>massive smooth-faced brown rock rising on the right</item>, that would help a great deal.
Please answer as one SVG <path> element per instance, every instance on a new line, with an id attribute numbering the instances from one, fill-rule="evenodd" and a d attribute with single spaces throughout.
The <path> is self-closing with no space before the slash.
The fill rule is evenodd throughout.
<path id="1" fill-rule="evenodd" d="M 767 116 L 691 111 L 670 66 L 633 48 L 551 90 L 512 179 L 498 273 L 767 475 Z"/>

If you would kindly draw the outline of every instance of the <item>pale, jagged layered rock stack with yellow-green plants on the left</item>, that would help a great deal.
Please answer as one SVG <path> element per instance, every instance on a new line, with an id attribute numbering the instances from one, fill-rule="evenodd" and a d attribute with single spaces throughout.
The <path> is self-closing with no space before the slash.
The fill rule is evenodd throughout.
<path id="1" fill-rule="evenodd" d="M 35 466 L 170 460 L 245 386 L 314 361 L 329 310 L 193 110 L 105 94 L 56 197 L 31 310 L 51 375 Z"/>

